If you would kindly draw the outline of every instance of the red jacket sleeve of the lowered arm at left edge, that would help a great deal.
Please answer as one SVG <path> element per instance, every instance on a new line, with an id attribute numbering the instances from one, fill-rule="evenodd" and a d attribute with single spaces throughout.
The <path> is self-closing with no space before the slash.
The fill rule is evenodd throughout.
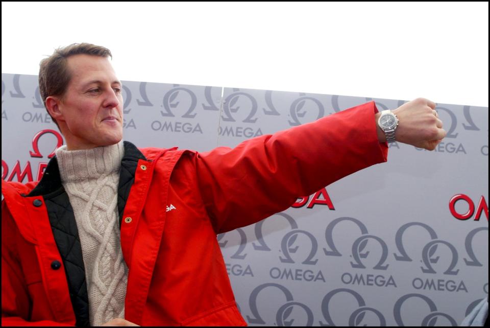
<path id="1" fill-rule="evenodd" d="M 16 250 L 15 226 L 2 201 L 2 326 L 59 326 L 51 320 L 29 321 L 32 301 Z"/>

